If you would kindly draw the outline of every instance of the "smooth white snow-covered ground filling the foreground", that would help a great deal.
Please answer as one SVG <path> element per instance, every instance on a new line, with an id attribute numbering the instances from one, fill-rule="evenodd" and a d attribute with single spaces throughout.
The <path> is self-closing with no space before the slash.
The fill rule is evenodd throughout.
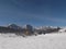
<path id="1" fill-rule="evenodd" d="M 66 34 L 30 37 L 0 35 L 0 49 L 66 49 Z"/>

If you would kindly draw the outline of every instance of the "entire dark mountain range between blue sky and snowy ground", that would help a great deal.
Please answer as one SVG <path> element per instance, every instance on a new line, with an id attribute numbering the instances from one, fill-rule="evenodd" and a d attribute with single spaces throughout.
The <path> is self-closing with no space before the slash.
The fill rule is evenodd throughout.
<path id="1" fill-rule="evenodd" d="M 42 26 L 42 27 L 33 27 L 31 25 L 26 25 L 25 27 L 18 26 L 16 24 L 10 24 L 9 26 L 0 26 L 1 34 L 14 33 L 16 35 L 32 35 L 32 34 L 48 34 L 53 32 L 58 32 L 62 29 L 61 27 L 53 26 Z"/>

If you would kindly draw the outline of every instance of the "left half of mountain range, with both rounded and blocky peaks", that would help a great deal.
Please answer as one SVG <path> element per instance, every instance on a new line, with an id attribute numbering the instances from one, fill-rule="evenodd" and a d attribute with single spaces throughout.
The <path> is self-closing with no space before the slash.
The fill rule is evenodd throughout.
<path id="1" fill-rule="evenodd" d="M 31 25 L 26 25 L 24 28 L 11 24 L 8 27 L 0 26 L 0 33 L 2 34 L 8 34 L 8 33 L 13 33 L 16 35 L 32 35 L 33 34 L 33 27 Z"/>

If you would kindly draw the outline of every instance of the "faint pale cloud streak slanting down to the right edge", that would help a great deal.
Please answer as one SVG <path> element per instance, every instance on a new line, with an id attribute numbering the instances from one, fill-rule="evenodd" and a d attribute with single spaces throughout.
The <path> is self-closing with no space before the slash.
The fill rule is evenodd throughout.
<path id="1" fill-rule="evenodd" d="M 66 23 L 66 20 L 64 19 L 57 19 L 57 17 L 51 17 L 51 16 L 44 16 L 44 15 L 36 15 L 36 14 L 30 14 L 26 13 L 24 19 L 26 20 L 36 20 L 36 21 L 52 21 L 52 22 L 62 22 L 62 23 Z"/>

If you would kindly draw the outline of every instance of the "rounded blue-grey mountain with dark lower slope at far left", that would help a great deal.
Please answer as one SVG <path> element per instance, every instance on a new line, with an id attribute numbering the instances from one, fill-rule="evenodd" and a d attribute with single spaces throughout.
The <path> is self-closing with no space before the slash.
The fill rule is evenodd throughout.
<path id="1" fill-rule="evenodd" d="M 22 28 L 15 24 L 11 24 L 8 27 L 0 26 L 0 33 L 2 34 L 8 34 L 8 33 L 20 34 L 22 32 L 23 32 Z"/>

